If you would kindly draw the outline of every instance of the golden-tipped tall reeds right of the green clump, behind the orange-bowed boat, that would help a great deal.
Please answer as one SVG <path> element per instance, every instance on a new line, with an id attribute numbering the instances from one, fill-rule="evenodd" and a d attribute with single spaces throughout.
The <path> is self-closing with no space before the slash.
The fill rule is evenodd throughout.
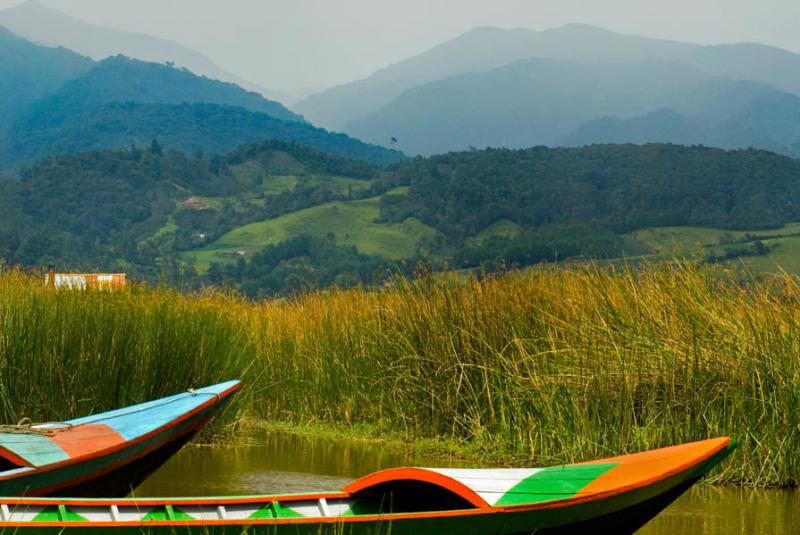
<path id="1" fill-rule="evenodd" d="M 730 435 L 726 482 L 800 482 L 800 286 L 690 265 L 428 279 L 251 311 L 276 420 L 369 422 L 518 463 Z"/>

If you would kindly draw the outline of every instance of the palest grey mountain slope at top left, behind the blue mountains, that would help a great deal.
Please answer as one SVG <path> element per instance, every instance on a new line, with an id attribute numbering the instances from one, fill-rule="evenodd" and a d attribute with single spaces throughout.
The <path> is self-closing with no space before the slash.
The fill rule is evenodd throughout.
<path id="1" fill-rule="evenodd" d="M 196 50 L 151 35 L 95 26 L 36 0 L 0 10 L 0 26 L 34 43 L 61 46 L 94 60 L 121 54 L 143 61 L 171 62 L 201 76 L 232 82 L 273 100 L 284 97 L 279 92 L 226 72 Z"/>

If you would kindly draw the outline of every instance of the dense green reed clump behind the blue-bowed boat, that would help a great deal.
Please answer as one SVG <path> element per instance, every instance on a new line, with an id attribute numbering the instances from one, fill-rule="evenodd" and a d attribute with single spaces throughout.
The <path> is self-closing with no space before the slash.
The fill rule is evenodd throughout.
<path id="1" fill-rule="evenodd" d="M 225 305 L 171 290 L 56 290 L 23 273 L 0 275 L 0 419 L 62 420 L 248 376 L 248 331 Z"/>

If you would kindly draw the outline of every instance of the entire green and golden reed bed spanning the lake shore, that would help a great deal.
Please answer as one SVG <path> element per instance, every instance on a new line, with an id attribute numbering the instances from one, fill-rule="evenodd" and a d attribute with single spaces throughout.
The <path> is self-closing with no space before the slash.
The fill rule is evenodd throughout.
<path id="1" fill-rule="evenodd" d="M 800 281 L 789 275 L 541 268 L 258 303 L 0 276 L 7 421 L 232 376 L 249 384 L 234 419 L 445 438 L 515 464 L 730 435 L 740 448 L 716 481 L 800 484 Z"/>

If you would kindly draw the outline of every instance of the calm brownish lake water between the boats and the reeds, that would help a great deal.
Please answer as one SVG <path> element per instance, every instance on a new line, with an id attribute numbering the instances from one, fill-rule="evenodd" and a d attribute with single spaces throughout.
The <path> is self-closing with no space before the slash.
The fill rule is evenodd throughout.
<path id="1" fill-rule="evenodd" d="M 189 447 L 148 479 L 137 496 L 220 496 L 337 490 L 394 466 L 477 465 L 404 455 L 395 447 L 264 433 L 247 445 Z M 797 534 L 800 493 L 696 486 L 640 531 L 643 535 Z"/>

